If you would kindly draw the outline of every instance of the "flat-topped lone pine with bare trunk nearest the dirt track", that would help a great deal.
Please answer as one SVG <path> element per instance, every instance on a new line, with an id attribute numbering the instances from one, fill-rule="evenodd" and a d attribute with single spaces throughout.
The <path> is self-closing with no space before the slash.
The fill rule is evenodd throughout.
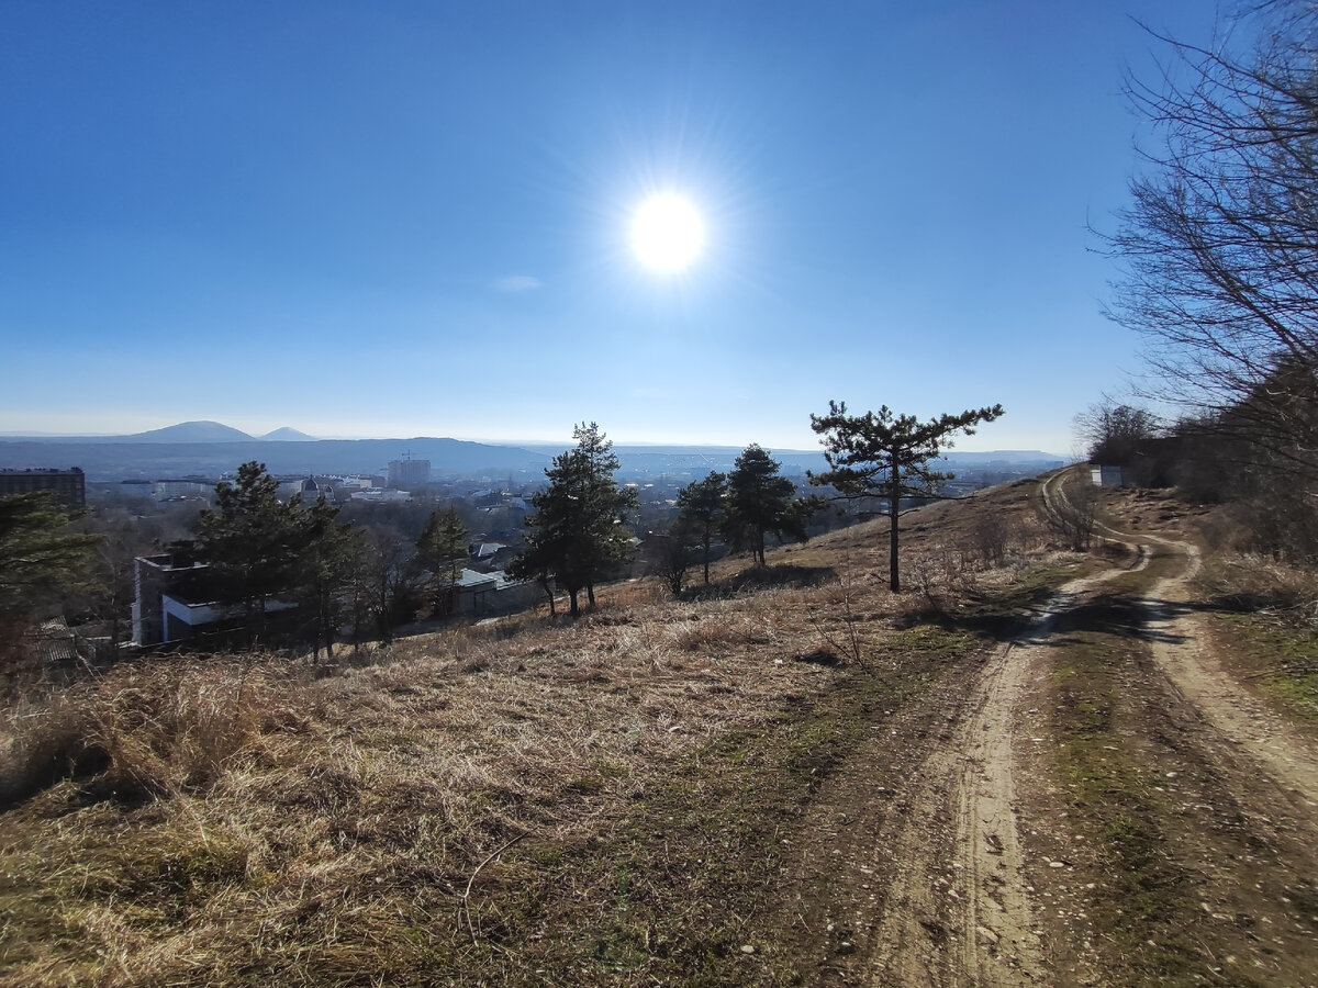
<path id="1" fill-rule="evenodd" d="M 929 468 L 956 433 L 974 435 L 981 422 L 1003 414 L 1000 404 L 971 408 L 920 422 L 913 415 L 895 415 L 888 406 L 876 412 L 847 415 L 846 402 L 829 402 L 828 415 L 811 415 L 811 428 L 822 436 L 829 470 L 811 474 L 811 483 L 832 485 L 846 498 L 884 498 L 891 524 L 888 534 L 888 588 L 902 590 L 898 573 L 898 519 L 902 498 L 940 497 L 940 487 L 953 478 Z"/>

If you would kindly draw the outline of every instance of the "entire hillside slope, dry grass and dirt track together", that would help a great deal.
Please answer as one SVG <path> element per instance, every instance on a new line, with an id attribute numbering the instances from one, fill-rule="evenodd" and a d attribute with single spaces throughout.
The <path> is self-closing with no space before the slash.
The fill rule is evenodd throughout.
<path id="1" fill-rule="evenodd" d="M 1311 983 L 1314 793 L 1268 768 L 1313 751 L 1296 690 L 1248 696 L 1293 746 L 1256 757 L 1180 685 L 1214 643 L 1230 706 L 1223 635 L 1261 634 L 1176 605 L 1194 519 L 1110 495 L 1144 548 L 1068 553 L 1045 501 L 909 516 L 899 597 L 871 523 L 576 624 L 13 707 L 0 977 Z"/>

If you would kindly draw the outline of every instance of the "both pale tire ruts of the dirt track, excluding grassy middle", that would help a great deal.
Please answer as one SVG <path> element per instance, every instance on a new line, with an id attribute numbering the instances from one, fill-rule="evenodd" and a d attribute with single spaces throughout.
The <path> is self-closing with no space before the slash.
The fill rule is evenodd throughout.
<path id="1" fill-rule="evenodd" d="M 1040 485 L 1048 514 L 1069 508 L 1062 480 L 1064 474 L 1057 474 Z M 1318 792 L 1314 744 L 1244 694 L 1202 645 L 1199 620 L 1185 606 L 1198 565 L 1194 548 L 1182 540 L 1123 534 L 1101 523 L 1095 530 L 1133 549 L 1133 566 L 1114 566 L 1072 581 L 1050 597 L 1023 632 L 956 684 L 960 697 L 942 698 L 937 714 L 945 727 L 928 738 L 921 757 L 907 764 L 907 781 L 898 786 L 894 811 L 874 834 L 874 859 L 886 863 L 882 875 L 887 884 L 871 896 L 876 922 L 863 945 L 865 979 L 871 985 L 1056 983 L 1057 972 L 1046 967 L 1056 959 L 1045 939 L 1053 930 L 1045 900 L 1036 898 L 1027 877 L 1021 846 L 1016 765 L 1023 764 L 1025 750 L 1019 746 L 1028 740 L 1029 713 L 1040 705 L 1037 682 L 1058 660 L 1056 648 L 1062 643 L 1054 628 L 1060 620 L 1083 606 L 1094 590 L 1102 591 L 1107 581 L 1143 570 L 1169 551 L 1185 556 L 1185 568 L 1132 595 L 1140 605 L 1153 668 L 1168 689 L 1186 701 L 1174 706 L 1205 726 L 1188 736 L 1201 736 L 1214 752 L 1206 764 L 1220 768 L 1210 768 L 1209 777 L 1235 793 L 1235 805 L 1277 806 L 1272 790 L 1280 788 L 1294 809 L 1285 821 L 1276 821 L 1280 827 L 1260 817 L 1263 826 L 1246 838 L 1255 842 L 1249 847 L 1276 848 L 1268 854 L 1281 854 L 1286 862 L 1313 860 L 1311 835 L 1318 827 L 1311 811 Z M 1037 872 L 1039 862 L 1029 864 Z M 1272 885 L 1282 888 L 1293 881 L 1288 867 L 1278 865 L 1280 877 L 1269 877 Z M 1239 901 L 1243 908 L 1236 916 L 1257 912 L 1267 917 L 1267 904 L 1260 906 L 1228 889 L 1203 894 Z M 1219 917 L 1213 913 L 1211 919 L 1218 922 Z M 1093 960 L 1102 968 L 1098 958 Z"/>

